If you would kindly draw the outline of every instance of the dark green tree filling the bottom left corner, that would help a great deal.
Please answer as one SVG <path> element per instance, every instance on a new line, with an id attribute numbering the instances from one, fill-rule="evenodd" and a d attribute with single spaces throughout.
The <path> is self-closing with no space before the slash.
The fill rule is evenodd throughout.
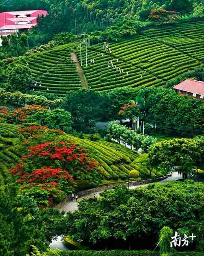
<path id="1" fill-rule="evenodd" d="M 0 193 L 0 254 L 22 256 L 30 251 L 31 245 L 45 250 L 46 226 L 33 199 L 18 195 L 15 187 Z"/>

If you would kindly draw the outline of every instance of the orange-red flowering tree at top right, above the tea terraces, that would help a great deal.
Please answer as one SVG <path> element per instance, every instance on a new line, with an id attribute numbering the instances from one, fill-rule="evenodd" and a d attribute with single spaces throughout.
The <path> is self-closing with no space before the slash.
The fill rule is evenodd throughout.
<path id="1" fill-rule="evenodd" d="M 167 11 L 166 9 L 154 9 L 150 11 L 149 20 L 157 23 L 173 23 L 177 21 L 177 14 L 175 11 Z"/>

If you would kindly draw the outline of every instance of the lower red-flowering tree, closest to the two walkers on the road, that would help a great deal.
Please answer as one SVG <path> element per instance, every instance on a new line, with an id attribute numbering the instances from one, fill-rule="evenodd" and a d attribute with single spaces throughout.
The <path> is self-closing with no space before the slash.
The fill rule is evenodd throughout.
<path id="1" fill-rule="evenodd" d="M 18 177 L 17 182 L 21 184 L 22 192 L 33 196 L 39 204 L 60 202 L 71 193 L 74 183 L 71 174 L 61 168 L 42 167 L 29 173 L 21 163 L 10 172 Z"/>

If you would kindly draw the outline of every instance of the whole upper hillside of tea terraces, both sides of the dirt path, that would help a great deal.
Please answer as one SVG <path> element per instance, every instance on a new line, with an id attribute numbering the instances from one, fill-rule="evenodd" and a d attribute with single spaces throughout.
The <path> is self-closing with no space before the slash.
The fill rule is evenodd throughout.
<path id="1" fill-rule="evenodd" d="M 203 30 L 204 21 L 180 23 L 144 29 L 137 36 L 109 43 L 111 52 L 104 49 L 104 43 L 92 45 L 87 51 L 87 67 L 85 48 L 82 48 L 82 69 L 89 89 L 106 91 L 126 86 L 135 89 L 162 86 L 202 66 Z M 81 88 L 78 70 L 71 59 L 73 51 L 80 61 L 79 48 L 72 43 L 20 58 L 17 62 L 28 64 L 36 81 L 42 82 L 41 86 L 33 86 L 35 90 L 63 96 L 67 91 Z"/>

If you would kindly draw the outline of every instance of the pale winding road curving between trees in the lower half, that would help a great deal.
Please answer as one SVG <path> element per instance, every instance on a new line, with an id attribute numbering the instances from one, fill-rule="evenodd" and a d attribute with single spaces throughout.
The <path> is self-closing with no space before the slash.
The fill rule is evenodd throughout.
<path id="1" fill-rule="evenodd" d="M 158 181 L 158 183 L 166 183 L 166 182 L 169 182 L 169 181 L 176 181 L 178 179 L 182 179 L 182 176 L 180 174 L 178 174 L 177 172 L 174 172 L 171 177 L 168 177 L 168 178 L 166 178 L 162 181 Z M 149 184 L 151 184 L 151 183 L 149 183 Z M 130 189 L 136 189 L 138 187 L 148 186 L 149 184 L 132 186 L 132 187 L 130 187 Z M 99 197 L 100 193 L 102 193 L 102 191 L 90 194 L 90 195 L 85 196 L 85 197 L 80 197 L 78 199 L 78 202 L 80 202 L 83 198 L 89 198 L 89 197 L 94 197 L 94 196 Z M 72 201 L 72 202 L 67 203 L 64 206 L 64 208 L 61 209 L 61 211 L 65 211 L 67 213 L 67 212 L 73 212 L 73 211 L 77 210 L 78 209 L 78 202 Z M 53 240 L 50 244 L 50 247 L 55 248 L 55 249 L 58 248 L 58 249 L 61 249 L 63 251 L 68 250 L 67 247 L 65 247 L 64 243 L 62 242 L 62 237 L 61 236 L 58 236 L 57 240 Z"/>

